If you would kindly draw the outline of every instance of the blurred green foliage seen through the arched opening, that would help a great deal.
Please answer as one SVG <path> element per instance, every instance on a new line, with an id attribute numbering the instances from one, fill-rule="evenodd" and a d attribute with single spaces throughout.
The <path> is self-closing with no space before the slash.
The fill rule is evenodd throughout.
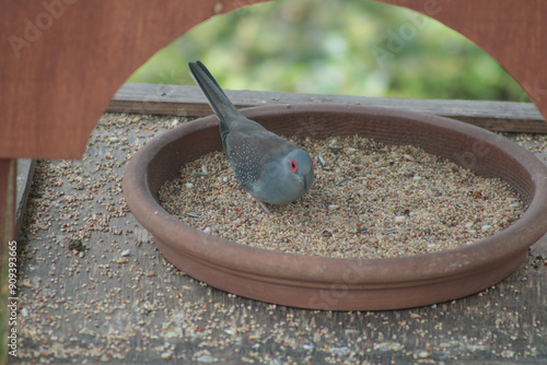
<path id="1" fill-rule="evenodd" d="M 366 0 L 278 0 L 213 16 L 128 81 L 194 85 L 187 62 L 197 59 L 233 90 L 529 102 L 464 36 Z"/>

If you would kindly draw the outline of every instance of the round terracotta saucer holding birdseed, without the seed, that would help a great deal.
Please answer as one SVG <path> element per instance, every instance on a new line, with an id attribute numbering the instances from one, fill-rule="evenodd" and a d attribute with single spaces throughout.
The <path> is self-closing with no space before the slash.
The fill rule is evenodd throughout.
<path id="1" fill-rule="evenodd" d="M 333 310 L 416 307 L 459 298 L 511 274 L 547 231 L 547 167 L 533 154 L 484 129 L 432 115 L 333 105 L 248 108 L 248 118 L 282 136 L 360 134 L 414 144 L 487 177 L 509 182 L 526 212 L 513 225 L 462 248 L 394 259 L 333 259 L 247 247 L 207 235 L 158 202 L 179 167 L 221 150 L 217 118 L 185 123 L 151 140 L 130 161 L 124 193 L 163 255 L 193 278 L 244 297 Z"/>

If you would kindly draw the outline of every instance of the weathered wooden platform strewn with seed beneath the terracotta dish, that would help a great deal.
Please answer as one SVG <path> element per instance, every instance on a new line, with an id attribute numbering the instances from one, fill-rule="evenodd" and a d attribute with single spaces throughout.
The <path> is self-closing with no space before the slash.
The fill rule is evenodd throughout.
<path id="1" fill-rule="evenodd" d="M 144 98 L 131 102 L 127 93 L 121 97 L 130 87 L 118 92 L 109 110 L 189 115 L 183 104 L 194 97 L 193 110 L 201 110 L 194 114 L 210 114 L 195 90 L 187 98 L 146 92 Z M 167 96 L 175 99 L 165 103 L 168 108 L 162 104 Z M 240 96 L 242 105 L 286 102 L 282 95 L 267 93 L 248 101 Z M 435 109 L 431 101 L 412 103 L 410 108 Z M 439 103 L 445 105 L 440 114 L 451 111 L 450 103 Z M 502 130 L 545 127 L 529 105 L 457 103 L 462 104 L 452 116 L 459 113 L 470 122 L 490 120 L 489 126 Z M 482 110 L 476 119 L 474 110 Z M 136 150 L 185 120 L 173 115 L 105 114 L 82 161 L 37 164 L 18 239 L 24 257 L 20 343 L 10 363 L 547 362 L 547 237 L 494 287 L 406 310 L 331 313 L 274 306 L 217 291 L 176 270 L 127 210 L 121 176 Z M 546 161 L 546 136 L 508 137 Z"/>

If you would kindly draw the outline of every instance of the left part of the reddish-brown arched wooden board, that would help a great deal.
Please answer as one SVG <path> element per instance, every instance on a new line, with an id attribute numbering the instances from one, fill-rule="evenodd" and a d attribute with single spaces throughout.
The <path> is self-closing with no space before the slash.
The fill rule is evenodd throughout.
<path id="1" fill-rule="evenodd" d="M 81 157 L 132 71 L 216 12 L 249 2 L 3 1 L 0 157 Z"/>

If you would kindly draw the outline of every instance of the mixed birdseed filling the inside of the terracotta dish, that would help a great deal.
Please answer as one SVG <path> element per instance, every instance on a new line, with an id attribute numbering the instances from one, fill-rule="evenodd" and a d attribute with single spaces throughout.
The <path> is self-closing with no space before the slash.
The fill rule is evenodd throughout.
<path id="1" fill-rule="evenodd" d="M 334 258 L 393 258 L 473 244 L 525 210 L 511 186 L 416 146 L 361 137 L 294 141 L 315 160 L 315 182 L 268 216 L 222 152 L 181 168 L 162 205 L 205 233 L 242 245 Z"/>

